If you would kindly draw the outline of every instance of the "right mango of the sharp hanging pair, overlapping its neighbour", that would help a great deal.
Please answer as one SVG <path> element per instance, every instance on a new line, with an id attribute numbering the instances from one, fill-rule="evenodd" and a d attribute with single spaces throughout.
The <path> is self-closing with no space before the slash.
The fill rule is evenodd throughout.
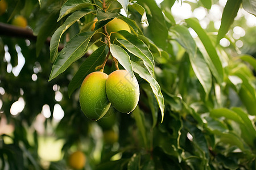
<path id="1" fill-rule="evenodd" d="M 139 101 L 139 84 L 126 70 L 113 71 L 106 80 L 106 94 L 117 111 L 129 113 Z"/>

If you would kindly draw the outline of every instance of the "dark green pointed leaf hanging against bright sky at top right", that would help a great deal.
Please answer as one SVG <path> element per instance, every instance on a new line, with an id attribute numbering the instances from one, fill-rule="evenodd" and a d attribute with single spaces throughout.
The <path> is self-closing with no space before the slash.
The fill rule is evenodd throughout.
<path id="1" fill-rule="evenodd" d="M 237 12 L 240 8 L 241 3 L 242 0 L 228 0 L 226 2 L 224 11 L 222 13 L 221 26 L 220 29 L 218 30 L 217 44 L 229 31 L 229 27 L 234 22 L 234 18 L 237 16 Z"/>

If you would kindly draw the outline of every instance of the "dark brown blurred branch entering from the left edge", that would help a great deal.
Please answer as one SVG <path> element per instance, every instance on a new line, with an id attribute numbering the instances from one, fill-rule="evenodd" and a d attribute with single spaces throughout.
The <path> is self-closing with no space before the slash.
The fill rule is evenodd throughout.
<path id="1" fill-rule="evenodd" d="M 18 37 L 22 39 L 36 41 L 36 36 L 34 35 L 31 29 L 16 27 L 14 25 L 1 23 L 1 22 L 0 22 L 0 36 Z M 49 45 L 50 41 L 51 41 L 51 37 L 48 37 L 46 39 L 46 44 Z M 60 44 L 58 50 L 61 51 L 62 49 L 63 49 L 63 45 Z"/>

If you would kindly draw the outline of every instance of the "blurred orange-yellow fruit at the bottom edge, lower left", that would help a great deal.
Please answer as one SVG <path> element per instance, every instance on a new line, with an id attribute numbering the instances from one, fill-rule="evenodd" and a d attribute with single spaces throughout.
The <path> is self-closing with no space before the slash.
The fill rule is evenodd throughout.
<path id="1" fill-rule="evenodd" d="M 74 169 L 81 169 L 86 163 L 86 157 L 83 152 L 76 151 L 69 156 L 68 163 Z"/>

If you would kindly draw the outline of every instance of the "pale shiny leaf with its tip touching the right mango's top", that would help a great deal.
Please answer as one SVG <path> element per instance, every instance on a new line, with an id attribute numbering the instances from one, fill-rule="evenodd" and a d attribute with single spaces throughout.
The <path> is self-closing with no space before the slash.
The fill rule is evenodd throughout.
<path id="1" fill-rule="evenodd" d="M 118 60 L 118 62 L 125 68 L 126 71 L 131 75 L 133 78 L 133 67 L 131 66 L 131 60 L 129 54 L 121 48 L 121 46 L 111 44 L 110 45 L 110 52 L 114 58 Z"/>

